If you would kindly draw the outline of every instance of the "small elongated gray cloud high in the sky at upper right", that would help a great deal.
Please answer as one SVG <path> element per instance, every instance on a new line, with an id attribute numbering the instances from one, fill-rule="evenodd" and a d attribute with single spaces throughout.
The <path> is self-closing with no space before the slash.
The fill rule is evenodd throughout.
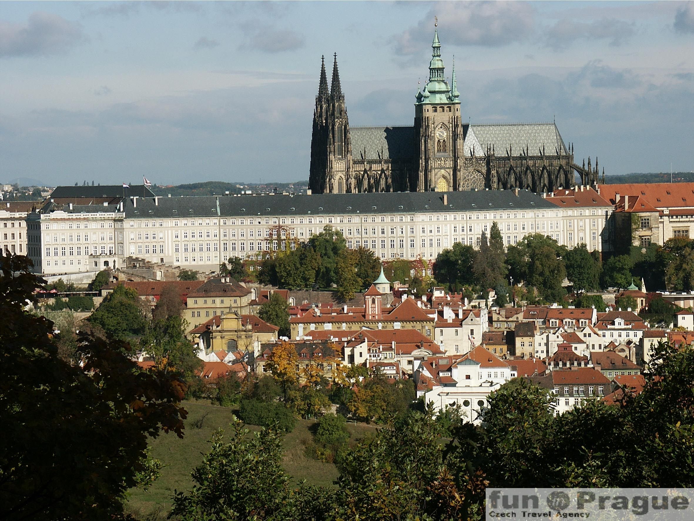
<path id="1" fill-rule="evenodd" d="M 561 19 L 547 31 L 545 44 L 555 51 L 561 51 L 577 40 L 606 39 L 612 47 L 618 47 L 628 42 L 635 32 L 634 22 L 616 18 L 602 18 L 593 22 Z"/>

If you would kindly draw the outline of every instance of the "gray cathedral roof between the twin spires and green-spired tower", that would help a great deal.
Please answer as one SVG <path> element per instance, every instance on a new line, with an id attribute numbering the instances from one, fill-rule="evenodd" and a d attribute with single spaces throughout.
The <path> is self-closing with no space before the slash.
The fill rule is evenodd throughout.
<path id="1" fill-rule="evenodd" d="M 350 126 L 355 160 L 407 160 L 415 157 L 414 126 Z"/>

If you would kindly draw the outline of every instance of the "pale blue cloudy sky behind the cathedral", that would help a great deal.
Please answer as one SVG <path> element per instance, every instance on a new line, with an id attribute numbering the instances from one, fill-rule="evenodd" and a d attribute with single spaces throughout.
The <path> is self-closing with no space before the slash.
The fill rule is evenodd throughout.
<path id="1" fill-rule="evenodd" d="M 694 1 L 0 1 L 0 181 L 306 180 L 321 55 L 350 125 L 411 125 L 434 17 L 473 124 L 694 169 Z"/>

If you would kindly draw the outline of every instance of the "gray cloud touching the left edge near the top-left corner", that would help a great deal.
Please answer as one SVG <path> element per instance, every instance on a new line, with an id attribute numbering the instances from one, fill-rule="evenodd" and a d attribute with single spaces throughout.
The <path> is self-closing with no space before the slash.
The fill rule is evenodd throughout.
<path id="1" fill-rule="evenodd" d="M 86 40 L 80 24 L 42 11 L 26 24 L 0 21 L 0 58 L 63 53 Z"/>

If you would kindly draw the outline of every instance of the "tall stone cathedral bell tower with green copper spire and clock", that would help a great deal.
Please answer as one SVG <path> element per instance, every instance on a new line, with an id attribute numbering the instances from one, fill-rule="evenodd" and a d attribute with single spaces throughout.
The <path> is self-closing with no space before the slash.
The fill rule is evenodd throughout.
<path id="1" fill-rule="evenodd" d="M 455 80 L 455 61 L 448 85 L 441 59 L 438 23 L 434 24 L 429 81 L 416 94 L 414 135 L 418 144 L 418 177 L 410 185 L 418 192 L 460 189 L 463 167 L 463 129 L 460 94 Z"/>

